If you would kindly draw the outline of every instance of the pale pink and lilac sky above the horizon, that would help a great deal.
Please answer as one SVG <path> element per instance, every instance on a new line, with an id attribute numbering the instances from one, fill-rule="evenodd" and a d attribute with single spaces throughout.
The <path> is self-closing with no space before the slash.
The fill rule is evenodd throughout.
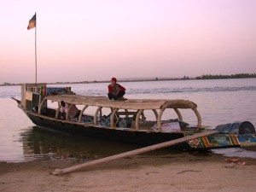
<path id="1" fill-rule="evenodd" d="M 9 0 L 0 84 L 256 73 L 256 0 Z"/>

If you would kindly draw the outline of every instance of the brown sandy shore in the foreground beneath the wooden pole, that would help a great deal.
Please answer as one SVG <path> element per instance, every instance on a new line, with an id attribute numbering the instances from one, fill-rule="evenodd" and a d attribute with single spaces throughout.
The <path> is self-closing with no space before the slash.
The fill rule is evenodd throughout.
<path id="1" fill-rule="evenodd" d="M 0 191 L 254 192 L 256 160 L 240 161 L 246 165 L 230 164 L 224 156 L 211 153 L 142 154 L 60 176 L 50 172 L 83 162 L 1 162 Z"/>

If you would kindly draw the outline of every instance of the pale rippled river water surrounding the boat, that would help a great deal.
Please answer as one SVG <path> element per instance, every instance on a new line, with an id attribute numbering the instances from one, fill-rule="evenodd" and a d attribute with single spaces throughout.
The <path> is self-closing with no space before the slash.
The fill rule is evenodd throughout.
<path id="1" fill-rule="evenodd" d="M 128 99 L 185 99 L 195 102 L 201 113 L 202 125 L 215 127 L 248 120 L 256 125 L 256 79 L 173 80 L 124 82 Z M 77 94 L 106 96 L 106 83 L 62 84 Z M 97 159 L 138 148 L 89 137 L 77 137 L 47 131 L 26 117 L 10 97 L 20 99 L 20 86 L 0 86 L 0 161 L 18 162 L 44 159 Z M 195 117 L 184 112 L 184 120 L 195 123 Z M 256 159 L 256 152 L 242 148 L 213 150 L 227 156 Z M 177 153 L 165 151 L 164 153 Z"/>

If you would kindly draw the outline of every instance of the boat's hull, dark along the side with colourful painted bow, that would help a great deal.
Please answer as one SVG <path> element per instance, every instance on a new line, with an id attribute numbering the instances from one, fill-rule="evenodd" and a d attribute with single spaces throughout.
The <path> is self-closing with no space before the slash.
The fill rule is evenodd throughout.
<path id="1" fill-rule="evenodd" d="M 97 137 L 125 143 L 134 143 L 141 146 L 164 143 L 187 135 L 195 134 L 191 132 L 166 133 L 156 131 L 136 131 L 134 129 L 114 129 L 104 126 L 85 125 L 69 120 L 49 118 L 44 115 L 38 115 L 38 113 L 32 113 L 31 111 L 27 111 L 23 108 L 21 109 L 35 125 L 42 128 L 83 137 Z M 245 142 L 247 138 L 250 138 L 249 143 Z M 200 137 L 187 143 L 180 143 L 170 148 L 178 150 L 207 151 L 212 148 L 236 148 L 246 146 L 256 146 L 255 134 L 215 134 L 208 137 Z"/>

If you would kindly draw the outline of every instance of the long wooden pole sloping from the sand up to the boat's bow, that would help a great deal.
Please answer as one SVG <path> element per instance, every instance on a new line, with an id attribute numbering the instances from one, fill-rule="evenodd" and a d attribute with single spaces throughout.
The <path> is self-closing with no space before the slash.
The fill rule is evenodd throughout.
<path id="1" fill-rule="evenodd" d="M 153 150 L 156 150 L 156 149 L 159 149 L 159 148 L 166 148 L 166 147 L 176 145 L 176 144 L 179 144 L 179 143 L 188 142 L 188 141 L 190 141 L 192 139 L 196 139 L 198 137 L 206 137 L 206 136 L 216 134 L 216 133 L 218 133 L 218 131 L 204 131 L 204 132 L 196 133 L 196 134 L 191 135 L 191 136 L 182 137 L 182 138 L 178 138 L 178 139 L 175 139 L 175 140 L 172 140 L 172 141 L 168 141 L 168 142 L 165 142 L 165 143 L 158 143 L 158 144 L 151 145 L 151 146 L 148 146 L 148 147 L 145 147 L 145 148 L 138 148 L 138 149 L 135 149 L 135 150 L 132 150 L 132 151 L 122 153 L 122 154 L 114 154 L 112 156 L 105 157 L 105 158 L 102 158 L 102 159 L 99 159 L 99 160 L 92 160 L 90 162 L 86 162 L 86 163 L 83 163 L 83 164 L 80 164 L 80 165 L 77 165 L 77 166 L 70 166 L 70 167 L 67 167 L 67 168 L 64 168 L 64 169 L 55 169 L 55 171 L 51 172 L 51 173 L 54 174 L 54 175 L 61 175 L 61 174 L 67 173 L 67 172 L 74 172 L 74 171 L 77 171 L 77 170 L 82 169 L 82 168 L 87 167 L 87 166 L 95 166 L 97 164 L 105 163 L 105 162 L 108 162 L 110 160 L 117 160 L 117 159 L 124 158 L 124 157 L 127 157 L 127 156 L 132 156 L 132 155 L 136 155 L 136 154 L 143 154 L 143 153 L 146 153 L 148 151 L 153 151 Z"/>

